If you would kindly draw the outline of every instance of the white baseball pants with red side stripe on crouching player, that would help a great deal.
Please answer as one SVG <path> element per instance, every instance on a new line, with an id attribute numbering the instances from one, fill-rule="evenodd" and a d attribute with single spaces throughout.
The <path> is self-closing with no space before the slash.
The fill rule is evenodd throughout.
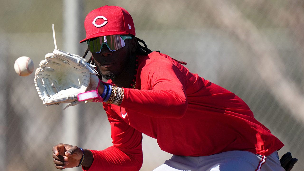
<path id="1" fill-rule="evenodd" d="M 173 155 L 153 171 L 285 171 L 278 152 L 255 155 L 246 151 L 229 151 L 209 156 Z"/>

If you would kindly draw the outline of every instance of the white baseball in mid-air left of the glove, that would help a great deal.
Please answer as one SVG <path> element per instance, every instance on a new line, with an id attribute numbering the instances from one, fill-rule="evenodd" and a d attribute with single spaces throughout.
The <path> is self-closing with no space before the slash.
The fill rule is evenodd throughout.
<path id="1" fill-rule="evenodd" d="M 34 71 L 34 63 L 31 58 L 22 56 L 16 59 L 14 68 L 18 75 L 25 77 Z"/>

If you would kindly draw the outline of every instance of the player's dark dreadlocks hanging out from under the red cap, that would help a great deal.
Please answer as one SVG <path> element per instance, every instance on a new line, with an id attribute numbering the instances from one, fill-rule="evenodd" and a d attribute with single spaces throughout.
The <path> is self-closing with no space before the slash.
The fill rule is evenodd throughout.
<path id="1" fill-rule="evenodd" d="M 140 44 L 137 45 L 137 48 L 136 48 L 136 50 L 135 50 L 135 54 L 136 54 L 136 55 L 143 55 L 143 56 L 146 56 L 146 55 L 148 55 L 148 54 L 150 54 L 150 53 L 152 52 L 152 51 L 147 47 L 147 44 L 146 44 L 143 40 L 141 40 L 141 39 L 139 39 L 139 38 L 137 38 L 137 37 L 135 37 L 135 38 L 136 38 L 136 41 L 137 41 L 137 42 L 140 42 L 140 43 L 143 44 L 143 46 L 140 45 Z M 89 52 L 89 48 L 85 51 L 85 54 L 83 55 L 82 58 L 85 58 L 85 57 L 87 56 L 88 52 Z M 160 52 L 160 51 L 157 51 L 157 52 Z M 177 61 L 177 62 L 180 63 L 180 64 L 187 65 L 186 62 L 178 61 L 178 60 L 176 60 L 176 59 L 174 59 L 174 58 L 172 58 L 172 59 L 173 59 L 174 61 Z M 88 60 L 88 63 L 89 63 L 89 64 L 92 64 L 92 65 L 95 65 L 95 61 L 94 61 L 93 57 L 91 57 L 91 58 Z M 98 78 L 101 79 L 101 72 L 100 72 L 99 68 L 96 67 L 95 70 L 96 70 L 97 73 L 98 73 Z"/>

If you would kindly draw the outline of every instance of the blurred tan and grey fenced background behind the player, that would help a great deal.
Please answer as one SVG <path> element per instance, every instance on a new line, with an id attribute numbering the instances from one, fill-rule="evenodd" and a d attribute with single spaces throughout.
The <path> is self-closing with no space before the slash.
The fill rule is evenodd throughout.
<path id="1" fill-rule="evenodd" d="M 118 5 L 133 17 L 136 37 L 153 51 L 188 63 L 193 73 L 240 96 L 257 120 L 299 159 L 304 170 L 304 1 L 302 0 L 1 0 L 0 170 L 57 170 L 52 146 L 69 143 L 102 150 L 112 145 L 102 104 L 45 107 L 34 73 L 18 76 L 14 61 L 35 68 L 57 47 L 83 56 L 83 22 L 93 9 Z M 89 58 L 89 55 L 86 59 Z M 171 158 L 143 135 L 143 166 Z M 66 170 L 81 170 L 73 168 Z"/>

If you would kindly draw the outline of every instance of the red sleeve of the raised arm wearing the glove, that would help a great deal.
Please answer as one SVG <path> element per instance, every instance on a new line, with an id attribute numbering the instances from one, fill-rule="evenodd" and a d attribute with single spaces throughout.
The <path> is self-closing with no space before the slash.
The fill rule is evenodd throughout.
<path id="1" fill-rule="evenodd" d="M 140 90 L 124 88 L 120 106 L 150 117 L 181 118 L 188 106 L 186 83 L 177 65 L 154 59 L 140 72 Z"/>

